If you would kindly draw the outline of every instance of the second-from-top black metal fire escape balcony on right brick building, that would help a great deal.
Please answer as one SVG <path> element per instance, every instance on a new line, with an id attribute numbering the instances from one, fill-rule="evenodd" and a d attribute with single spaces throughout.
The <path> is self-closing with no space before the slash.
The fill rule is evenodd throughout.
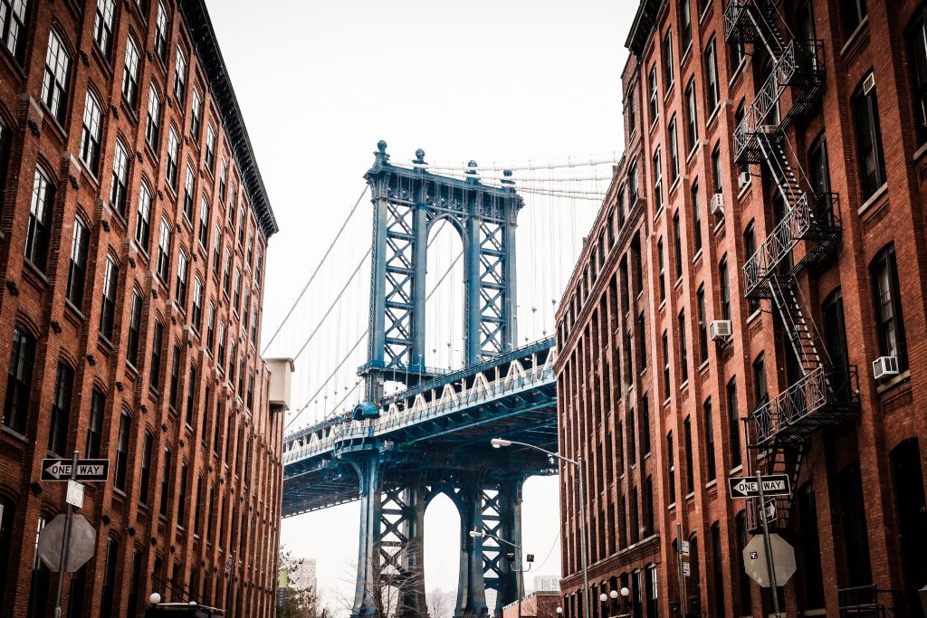
<path id="1" fill-rule="evenodd" d="M 735 3 L 731 2 L 728 6 Z M 759 163 L 763 160 L 756 141 L 756 132 L 763 130 L 769 114 L 775 109 L 787 87 L 798 88 L 793 106 L 786 114 L 788 122 L 805 113 L 817 100 L 824 83 L 824 64 L 821 58 L 823 45 L 810 40 L 790 41 L 776 60 L 766 82 L 756 92 L 756 98 L 747 107 L 743 120 L 734 129 L 734 159 L 738 163 Z"/>

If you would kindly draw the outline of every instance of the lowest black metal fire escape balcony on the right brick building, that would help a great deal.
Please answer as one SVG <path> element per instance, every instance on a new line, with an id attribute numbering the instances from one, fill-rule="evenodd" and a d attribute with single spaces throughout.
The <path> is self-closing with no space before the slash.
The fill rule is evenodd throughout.
<path id="1" fill-rule="evenodd" d="M 854 414 L 858 403 L 857 368 L 820 365 L 750 413 L 754 446 L 804 442 L 819 428 Z"/>

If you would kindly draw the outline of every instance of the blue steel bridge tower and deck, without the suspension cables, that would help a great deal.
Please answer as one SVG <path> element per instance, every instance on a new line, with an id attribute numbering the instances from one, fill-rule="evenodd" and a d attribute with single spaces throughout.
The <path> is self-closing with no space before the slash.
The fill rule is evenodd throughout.
<path id="1" fill-rule="evenodd" d="M 524 481 L 557 473 L 539 451 L 489 446 L 499 435 L 557 449 L 553 339 L 515 348 L 514 232 L 523 201 L 514 183 L 479 183 L 475 163 L 464 180 L 453 179 L 426 171 L 421 150 L 413 169 L 394 166 L 386 147 L 377 145 L 364 176 L 374 207 L 368 359 L 358 370 L 365 402 L 286 436 L 283 512 L 359 501 L 352 616 L 385 618 L 377 581 L 414 582 L 392 611 L 427 616 L 425 506 L 443 493 L 461 516 L 454 615 L 499 616 L 517 595 L 514 565 L 495 541 L 468 533 L 520 545 Z M 465 366 L 455 372 L 429 369 L 425 349 L 426 247 L 441 221 L 464 247 Z M 406 389 L 384 397 L 387 381 Z M 442 398 L 449 389 L 458 395 Z M 492 608 L 488 589 L 497 591 Z"/>

